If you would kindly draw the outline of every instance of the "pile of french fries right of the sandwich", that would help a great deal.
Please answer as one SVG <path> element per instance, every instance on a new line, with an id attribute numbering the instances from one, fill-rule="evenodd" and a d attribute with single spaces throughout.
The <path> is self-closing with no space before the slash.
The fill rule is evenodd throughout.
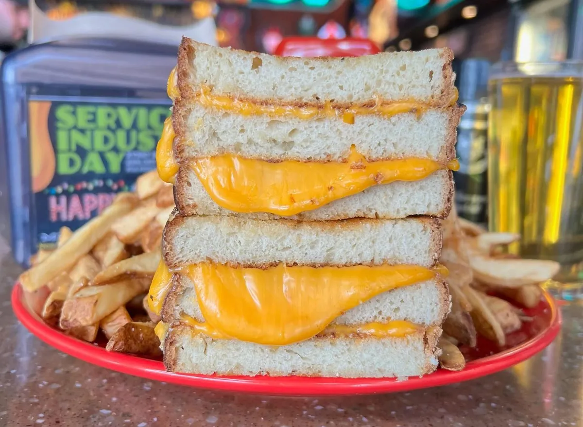
<path id="1" fill-rule="evenodd" d="M 452 304 L 439 342 L 442 368 L 462 370 L 466 362 L 458 347 L 476 347 L 478 334 L 504 347 L 507 334 L 532 320 L 522 308 L 539 304 L 540 285 L 552 279 L 560 265 L 508 254 L 505 247 L 519 239 L 518 234 L 489 233 L 459 218 L 455 209 L 444 220 L 440 262 L 449 270 Z"/>

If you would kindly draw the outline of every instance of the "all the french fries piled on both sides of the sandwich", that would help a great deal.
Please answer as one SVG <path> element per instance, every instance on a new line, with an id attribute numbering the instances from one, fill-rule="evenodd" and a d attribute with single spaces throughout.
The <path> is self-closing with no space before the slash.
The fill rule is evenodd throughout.
<path id="1" fill-rule="evenodd" d="M 57 248 L 38 251 L 20 275 L 29 306 L 81 340 L 94 342 L 101 331 L 109 351 L 161 356 L 154 333 L 160 318 L 147 306 L 147 291 L 173 209 L 172 185 L 151 171 L 138 178 L 135 193 L 118 194 L 76 232 L 63 227 Z M 459 347 L 475 347 L 478 334 L 503 347 L 507 334 L 531 320 L 521 307 L 539 304 L 540 284 L 560 266 L 506 254 L 504 247 L 519 238 L 486 232 L 455 209 L 444 220 L 440 262 L 449 270 L 452 304 L 439 341 L 442 368 L 463 369 Z"/>

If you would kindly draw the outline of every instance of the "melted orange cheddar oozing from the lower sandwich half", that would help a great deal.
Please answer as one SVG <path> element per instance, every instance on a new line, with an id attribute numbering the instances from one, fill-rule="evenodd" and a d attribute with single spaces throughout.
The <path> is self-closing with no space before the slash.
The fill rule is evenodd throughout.
<path id="1" fill-rule="evenodd" d="M 260 269 L 201 262 L 178 270 L 194 283 L 205 319 L 199 323 L 188 316 L 182 318 L 196 331 L 213 338 L 286 345 L 307 340 L 323 331 L 331 333 L 332 330 L 327 329 L 329 324 L 345 311 L 387 290 L 429 280 L 440 274 L 443 267 L 315 268 L 279 264 Z M 170 288 L 170 277 L 171 272 L 160 263 L 149 293 L 150 309 L 155 313 L 160 313 Z M 342 328 L 335 331 L 339 334 L 374 332 L 367 332 L 364 326 L 349 332 Z"/>

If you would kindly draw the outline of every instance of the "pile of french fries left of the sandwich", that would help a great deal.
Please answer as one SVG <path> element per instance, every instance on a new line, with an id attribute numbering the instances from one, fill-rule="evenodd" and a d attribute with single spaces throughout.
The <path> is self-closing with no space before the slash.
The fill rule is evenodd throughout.
<path id="1" fill-rule="evenodd" d="M 20 275 L 29 306 L 81 340 L 94 342 L 103 332 L 109 351 L 161 356 L 147 291 L 173 209 L 172 185 L 154 170 L 76 232 L 63 227 L 57 248 L 38 251 Z"/>

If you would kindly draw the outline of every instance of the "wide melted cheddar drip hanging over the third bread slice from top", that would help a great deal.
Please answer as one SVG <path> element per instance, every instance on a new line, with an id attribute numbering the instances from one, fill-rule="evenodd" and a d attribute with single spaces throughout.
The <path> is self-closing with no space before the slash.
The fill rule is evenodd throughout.
<path id="1" fill-rule="evenodd" d="M 266 162 L 222 155 L 194 160 L 195 171 L 210 198 L 234 212 L 269 212 L 290 216 L 357 194 L 373 185 L 416 181 L 438 169 L 458 169 L 430 159 L 368 162 L 353 148 L 347 162 Z"/>

